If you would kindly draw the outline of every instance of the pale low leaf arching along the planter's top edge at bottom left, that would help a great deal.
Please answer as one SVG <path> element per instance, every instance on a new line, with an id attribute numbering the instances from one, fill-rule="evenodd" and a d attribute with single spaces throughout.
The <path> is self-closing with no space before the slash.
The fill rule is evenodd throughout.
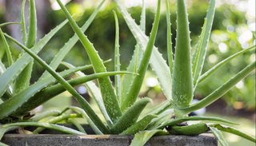
<path id="1" fill-rule="evenodd" d="M 66 128 L 58 124 L 49 124 L 49 123 L 42 123 L 42 122 L 17 122 L 17 123 L 3 124 L 2 128 L 9 128 L 13 126 L 18 126 L 18 127 L 35 126 L 35 127 L 50 128 L 50 129 L 57 130 L 59 132 L 65 132 L 68 134 L 85 135 L 85 133 L 74 130 L 73 128 Z"/>

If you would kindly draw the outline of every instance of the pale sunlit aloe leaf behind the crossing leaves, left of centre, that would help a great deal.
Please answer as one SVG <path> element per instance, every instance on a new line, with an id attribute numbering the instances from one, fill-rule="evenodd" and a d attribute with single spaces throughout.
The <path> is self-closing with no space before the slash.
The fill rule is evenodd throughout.
<path id="1" fill-rule="evenodd" d="M 74 68 L 74 65 L 71 65 L 69 63 L 65 63 L 64 65 L 66 65 L 66 67 L 68 67 L 70 69 Z M 78 72 L 78 73 L 76 73 L 76 75 L 78 77 L 85 77 L 86 76 L 82 72 Z M 93 81 L 88 81 L 88 82 L 84 83 L 84 85 L 86 86 L 86 89 L 88 90 L 88 93 L 90 93 L 90 96 L 93 97 L 94 100 L 96 101 L 96 103 L 98 105 L 98 108 L 101 110 L 102 115 L 104 116 L 104 118 L 106 120 L 106 123 L 111 127 L 112 124 L 113 124 L 113 121 L 110 119 L 110 116 L 106 112 L 106 108 L 105 108 L 104 103 L 102 101 L 102 95 L 101 95 L 100 89 L 98 89 L 98 87 L 94 84 Z"/>

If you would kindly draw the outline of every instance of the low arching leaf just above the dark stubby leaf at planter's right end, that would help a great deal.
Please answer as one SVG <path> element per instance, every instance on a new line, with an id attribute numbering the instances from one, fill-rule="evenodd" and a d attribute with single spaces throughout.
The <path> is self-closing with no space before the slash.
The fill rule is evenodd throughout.
<path id="1" fill-rule="evenodd" d="M 172 119 L 170 121 L 166 121 L 162 125 L 160 125 L 158 128 L 165 128 L 166 126 L 173 126 L 175 124 L 179 124 L 185 121 L 189 120 L 210 120 L 212 122 L 223 122 L 226 124 L 236 124 L 230 120 L 225 120 L 219 117 L 214 117 L 214 116 L 183 116 L 183 117 L 178 117 L 176 119 Z"/>

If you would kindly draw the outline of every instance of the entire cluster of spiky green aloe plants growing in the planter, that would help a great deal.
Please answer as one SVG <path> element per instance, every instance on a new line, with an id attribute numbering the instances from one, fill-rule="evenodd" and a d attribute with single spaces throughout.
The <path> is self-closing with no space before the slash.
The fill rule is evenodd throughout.
<path id="1" fill-rule="evenodd" d="M 0 125 L 0 138 L 2 138 L 5 132 L 24 126 L 41 127 L 35 129 L 33 133 L 41 132 L 43 128 L 53 128 L 71 134 L 86 134 L 86 131 L 75 120 L 77 117 L 83 117 L 86 119 L 87 123 L 90 124 L 95 134 L 135 134 L 131 145 L 143 145 L 155 134 L 198 135 L 208 131 L 213 132 L 222 145 L 226 145 L 226 140 L 223 138 L 220 131 L 230 132 L 255 142 L 254 137 L 220 124 L 234 124 L 228 120 L 223 120 L 218 117 L 187 116 L 188 113 L 206 107 L 218 100 L 218 98 L 222 97 L 223 94 L 236 85 L 238 81 L 241 81 L 243 77 L 246 77 L 255 69 L 254 61 L 234 77 L 230 78 L 229 81 L 223 83 L 221 87 L 214 90 L 213 93 L 210 93 L 209 96 L 205 97 L 202 101 L 191 105 L 194 90 L 201 81 L 210 77 L 210 74 L 214 73 L 234 57 L 255 50 L 255 46 L 244 49 L 226 58 L 224 61 L 219 62 L 212 69 L 206 71 L 206 73 L 202 73 L 211 26 L 214 20 L 214 0 L 210 0 L 210 6 L 202 27 L 202 34 L 199 37 L 198 44 L 194 47 L 190 46 L 190 30 L 186 13 L 186 2 L 185 0 L 177 1 L 177 38 L 175 49 L 172 49 L 170 6 L 168 0 L 166 0 L 166 48 L 168 52 L 168 65 L 161 53 L 159 53 L 158 49 L 154 46 L 158 32 L 162 2 L 158 0 L 150 37 L 147 37 L 145 34 L 145 2 L 143 1 L 141 22 L 140 26 L 138 26 L 122 6 L 122 3 L 118 0 L 114 0 L 118 6 L 118 10 L 137 41 L 130 65 L 127 67 L 127 70 L 123 72 L 120 71 L 118 17 L 115 12 L 114 72 L 106 71 L 104 61 L 102 61 L 94 45 L 84 34 L 84 31 L 90 26 L 90 23 L 98 13 L 104 0 L 82 27 L 79 27 L 77 23 L 74 22 L 74 19 L 68 10 L 66 10 L 66 7 L 63 6 L 60 0 L 57 0 L 67 20 L 54 28 L 49 34 L 46 34 L 45 37 L 42 37 L 38 42 L 36 42 L 34 0 L 30 0 L 30 27 L 28 33 L 26 33 L 24 18 L 25 2 L 26 0 L 22 2 L 22 21 L 20 22 L 22 26 L 23 42 L 18 42 L 8 34 L 2 33 L 2 30 L 0 31 L 8 58 L 7 69 L 5 65 L 0 62 L 0 96 L 2 98 L 0 105 L 0 121 L 2 123 Z M 59 50 L 54 59 L 50 62 L 50 65 L 47 65 L 45 61 L 38 57 L 37 53 L 41 51 L 44 45 L 50 41 L 50 38 L 53 37 L 62 26 L 66 25 L 67 22 L 70 23 L 75 34 L 66 42 L 62 49 Z M 5 23 L 2 24 L 1 27 L 10 24 L 13 23 Z M 16 61 L 13 61 L 11 57 L 6 38 L 10 39 L 10 41 L 14 41 L 14 43 L 23 50 Z M 63 58 L 78 40 L 84 46 L 90 58 L 91 65 L 75 67 L 67 62 L 62 62 Z M 194 54 L 191 53 L 191 48 L 195 49 Z M 173 50 L 175 50 L 175 53 L 173 53 Z M 30 76 L 34 61 L 38 61 L 38 63 L 46 69 L 46 72 L 42 74 L 42 77 L 40 77 L 36 83 L 30 85 Z M 55 69 L 57 69 L 60 64 L 65 65 L 67 69 L 57 73 Z M 154 69 L 160 85 L 162 86 L 162 92 L 165 93 L 167 100 L 161 105 L 158 105 L 158 107 L 150 109 L 149 112 L 141 114 L 146 105 L 150 103 L 149 98 L 138 99 L 138 93 L 149 65 Z M 93 68 L 95 73 L 85 75 L 81 72 L 81 70 L 88 68 Z M 71 73 L 75 73 L 77 78 L 66 81 L 64 77 L 67 77 Z M 111 75 L 115 76 L 115 87 L 112 85 L 110 77 L 108 77 Z M 96 78 L 98 86 L 90 81 Z M 104 117 L 103 120 L 99 118 L 90 104 L 73 88 L 74 85 L 79 84 L 84 84 L 90 96 L 95 99 Z M 81 108 L 70 106 L 64 111 L 46 111 L 35 116 L 28 114 L 31 109 L 34 109 L 64 91 L 70 92 L 78 101 Z M 72 112 L 70 113 L 70 111 Z M 78 130 L 65 128 L 56 124 L 63 120 L 74 124 Z M 192 120 L 207 120 L 211 123 L 200 122 L 190 124 L 187 122 Z"/>

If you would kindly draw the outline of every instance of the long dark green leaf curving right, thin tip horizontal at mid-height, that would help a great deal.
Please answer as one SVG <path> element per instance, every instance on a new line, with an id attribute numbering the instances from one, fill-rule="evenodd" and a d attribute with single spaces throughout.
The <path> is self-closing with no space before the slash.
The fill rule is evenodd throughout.
<path id="1" fill-rule="evenodd" d="M 106 76 L 113 76 L 116 74 L 123 74 L 127 72 L 106 72 L 106 73 L 94 73 L 91 75 L 88 75 L 86 77 L 78 77 L 73 80 L 68 81 L 70 85 L 80 85 L 85 83 L 86 81 L 92 81 L 94 79 L 100 78 L 100 77 L 106 77 Z M 47 78 L 46 78 L 47 79 Z M 42 88 L 42 86 L 41 86 Z M 65 92 L 66 89 L 61 84 L 50 86 L 39 93 L 36 92 L 36 94 L 33 97 L 30 97 L 28 101 L 22 104 L 21 107 L 19 107 L 16 112 L 13 113 L 14 116 L 21 116 L 21 114 L 24 114 L 25 112 L 28 112 L 34 108 L 36 108 L 38 105 L 42 105 L 44 102 L 49 101 L 51 98 L 57 96 L 60 93 Z M 29 97 L 29 96 L 27 96 Z"/>

